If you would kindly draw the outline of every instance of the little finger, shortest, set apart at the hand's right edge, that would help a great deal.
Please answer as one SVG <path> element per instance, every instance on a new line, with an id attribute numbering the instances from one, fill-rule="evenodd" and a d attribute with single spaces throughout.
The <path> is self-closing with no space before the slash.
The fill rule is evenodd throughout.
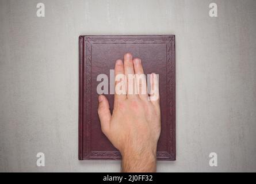
<path id="1" fill-rule="evenodd" d="M 151 74 L 150 77 L 150 101 L 151 103 L 159 108 L 159 77 L 156 74 Z"/>

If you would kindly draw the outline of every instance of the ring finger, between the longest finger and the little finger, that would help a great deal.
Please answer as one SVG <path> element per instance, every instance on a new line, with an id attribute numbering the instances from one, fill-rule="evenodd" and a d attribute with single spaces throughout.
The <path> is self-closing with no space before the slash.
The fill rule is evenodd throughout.
<path id="1" fill-rule="evenodd" d="M 137 93 L 142 100 L 148 101 L 147 81 L 142 67 L 142 60 L 139 58 L 133 59 L 133 66 L 136 76 Z"/>

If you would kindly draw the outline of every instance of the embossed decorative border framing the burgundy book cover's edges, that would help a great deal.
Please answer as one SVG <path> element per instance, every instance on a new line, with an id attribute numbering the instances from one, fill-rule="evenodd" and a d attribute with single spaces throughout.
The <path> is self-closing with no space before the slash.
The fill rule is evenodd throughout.
<path id="1" fill-rule="evenodd" d="M 91 49 L 93 44 L 166 44 L 167 152 L 158 160 L 175 160 L 175 36 L 79 36 L 79 160 L 120 160 L 117 151 L 91 151 Z M 86 137 L 86 139 L 85 139 Z"/>

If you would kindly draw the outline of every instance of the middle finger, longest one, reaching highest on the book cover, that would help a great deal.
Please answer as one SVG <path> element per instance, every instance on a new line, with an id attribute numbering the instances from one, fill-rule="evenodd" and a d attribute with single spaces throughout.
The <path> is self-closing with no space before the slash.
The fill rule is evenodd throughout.
<path id="1" fill-rule="evenodd" d="M 131 53 L 124 55 L 124 74 L 127 82 L 127 98 L 137 98 L 137 86 Z"/>

